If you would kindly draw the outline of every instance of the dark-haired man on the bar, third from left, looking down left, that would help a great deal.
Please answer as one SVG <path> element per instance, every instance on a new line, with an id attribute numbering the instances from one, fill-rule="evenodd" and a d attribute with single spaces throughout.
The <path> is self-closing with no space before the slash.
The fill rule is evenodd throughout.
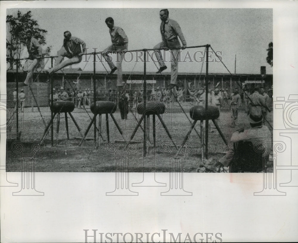
<path id="1" fill-rule="evenodd" d="M 110 74 L 113 74 L 116 70 L 118 70 L 118 72 L 117 72 L 117 87 L 121 87 L 121 86 L 123 86 L 123 83 L 122 83 L 122 58 L 123 58 L 123 53 L 122 52 L 117 52 L 117 60 L 116 60 L 116 66 L 117 67 L 112 62 L 112 59 L 109 56 L 109 53 L 114 52 L 114 51 L 123 51 L 123 52 L 127 51 L 127 49 L 128 49 L 128 38 L 127 38 L 127 35 L 125 34 L 125 32 L 122 28 L 114 26 L 114 19 L 113 18 L 111 18 L 111 17 L 106 18 L 105 24 L 109 28 L 112 45 L 108 46 L 103 51 L 103 57 L 108 62 L 108 65 L 111 68 Z"/>

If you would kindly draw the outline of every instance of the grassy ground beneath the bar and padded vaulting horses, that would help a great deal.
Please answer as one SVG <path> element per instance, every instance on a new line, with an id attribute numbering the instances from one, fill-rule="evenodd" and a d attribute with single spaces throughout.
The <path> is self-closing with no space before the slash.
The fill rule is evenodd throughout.
<path id="1" fill-rule="evenodd" d="M 189 117 L 189 109 L 193 105 L 190 103 L 184 103 L 183 108 Z M 90 109 L 87 108 L 89 115 L 92 117 L 93 114 Z M 46 123 L 50 120 L 50 110 L 48 107 L 42 107 L 41 113 Z M 90 122 L 90 118 L 84 109 L 77 109 L 72 112 L 78 125 L 80 126 L 82 133 L 85 133 L 87 126 Z M 134 127 L 136 126 L 136 120 L 133 114 L 128 113 L 127 120 L 121 120 L 119 110 L 114 113 L 114 116 L 123 131 L 125 140 L 129 140 Z M 140 118 L 135 113 L 137 119 Z M 41 119 L 37 108 L 34 108 L 34 112 L 31 112 L 31 108 L 25 108 L 24 116 L 20 113 L 20 127 L 21 127 L 21 141 L 40 141 L 44 132 L 44 123 Z M 151 117 L 150 117 L 151 119 Z M 157 118 L 156 118 L 157 119 Z M 270 124 L 272 124 L 272 113 L 268 113 L 267 117 Z M 180 146 L 183 138 L 190 129 L 190 122 L 182 112 L 181 108 L 177 103 L 174 105 L 167 105 L 166 113 L 163 115 L 163 120 L 170 130 L 170 134 L 173 140 Z M 93 140 L 84 141 L 81 147 L 78 147 L 80 140 L 80 133 L 75 127 L 74 123 L 68 117 L 69 123 L 69 136 L 70 140 L 67 141 L 66 127 L 64 114 L 60 117 L 60 130 L 59 135 L 56 134 L 57 129 L 57 118 L 54 120 L 54 147 L 51 147 L 50 136 L 46 136 L 44 140 L 45 148 L 41 153 L 35 155 L 36 160 L 36 171 L 37 172 L 113 172 L 115 170 L 115 153 L 108 152 L 106 149 L 106 141 L 101 141 L 101 144 L 94 144 Z M 226 140 L 229 141 L 232 133 L 239 127 L 249 127 L 247 121 L 247 115 L 244 111 L 240 111 L 238 116 L 238 124 L 235 128 L 230 127 L 231 113 L 229 111 L 222 111 L 220 116 L 220 127 Z M 98 116 L 97 116 L 98 126 Z M 110 140 L 111 141 L 123 141 L 122 136 L 118 132 L 114 122 L 109 117 L 110 127 Z M 212 124 L 213 127 L 213 124 Z M 200 133 L 200 123 L 196 124 L 196 130 Z M 209 158 L 218 159 L 223 156 L 223 152 L 227 150 L 224 141 L 220 137 L 218 131 L 213 128 L 214 132 L 209 133 L 208 151 Z M 91 127 L 87 138 L 93 138 L 93 126 Z M 98 133 L 97 133 L 98 135 Z M 106 128 L 105 128 L 105 116 L 102 116 L 102 136 L 107 140 Z M 156 151 L 153 149 L 153 136 L 152 136 L 152 120 L 150 121 L 150 142 L 148 155 L 143 157 L 143 132 L 139 128 L 133 141 L 136 142 L 138 147 L 135 152 L 129 154 L 130 166 L 143 166 L 150 167 L 154 164 L 157 166 L 166 166 L 169 164 L 170 154 L 176 154 L 177 150 L 172 147 L 170 153 L 163 152 L 162 146 L 164 144 L 172 144 L 170 139 L 167 137 L 161 123 L 156 121 Z M 201 165 L 201 143 L 200 138 L 193 130 L 189 144 L 191 145 L 190 151 L 184 156 L 184 171 L 185 172 L 196 172 L 197 168 Z M 24 143 L 26 147 L 26 143 Z M 117 142 L 118 150 L 117 155 L 125 154 L 125 143 Z M 29 145 L 28 145 L 29 146 Z M 95 149 L 97 147 L 97 149 Z M 29 147 L 27 149 L 30 149 Z M 8 171 L 19 171 L 20 170 L 20 155 L 11 151 L 10 144 L 7 146 L 7 170 Z M 148 169 L 147 171 L 150 171 Z M 160 169 L 159 171 L 164 171 Z"/>

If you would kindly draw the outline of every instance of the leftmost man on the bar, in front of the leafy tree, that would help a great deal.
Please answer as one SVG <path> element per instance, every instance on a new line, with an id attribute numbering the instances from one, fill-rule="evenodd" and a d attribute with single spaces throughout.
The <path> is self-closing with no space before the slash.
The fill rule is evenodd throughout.
<path id="1" fill-rule="evenodd" d="M 27 77 L 24 81 L 25 85 L 29 85 L 33 82 L 33 72 L 38 66 L 42 66 L 44 62 L 43 59 L 36 59 L 42 55 L 41 45 L 38 40 L 32 37 L 31 30 L 26 32 L 26 41 L 25 41 L 27 51 L 29 54 L 29 59 L 32 60 L 32 63 L 28 67 Z"/>

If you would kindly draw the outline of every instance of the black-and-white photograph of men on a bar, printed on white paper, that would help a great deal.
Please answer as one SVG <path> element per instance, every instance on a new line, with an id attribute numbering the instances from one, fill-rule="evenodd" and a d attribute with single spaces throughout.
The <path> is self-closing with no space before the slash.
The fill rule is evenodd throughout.
<path id="1" fill-rule="evenodd" d="M 114 147 L 130 172 L 169 155 L 183 172 L 270 169 L 272 23 L 270 8 L 8 9 L 7 171 L 33 141 L 36 172 L 114 172 Z"/>

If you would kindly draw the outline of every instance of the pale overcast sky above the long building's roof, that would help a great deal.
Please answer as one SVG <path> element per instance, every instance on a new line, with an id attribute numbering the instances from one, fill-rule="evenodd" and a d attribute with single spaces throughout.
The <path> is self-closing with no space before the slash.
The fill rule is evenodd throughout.
<path id="1" fill-rule="evenodd" d="M 160 9 L 62 9 L 39 8 L 20 9 L 22 13 L 32 11 L 32 18 L 38 21 L 40 28 L 46 29 L 46 46 L 52 46 L 52 55 L 56 55 L 63 43 L 63 32 L 69 30 L 73 36 L 86 42 L 87 47 L 103 50 L 111 45 L 107 17 L 114 18 L 115 26 L 124 29 L 129 39 L 128 49 L 152 48 L 161 42 Z M 184 34 L 187 46 L 210 44 L 215 51 L 222 52 L 222 60 L 234 73 L 235 54 L 237 55 L 236 73 L 260 73 L 260 66 L 266 66 L 267 74 L 272 68 L 266 63 L 268 43 L 273 39 L 272 9 L 169 9 L 169 18 L 176 20 Z M 7 10 L 7 14 L 16 15 L 17 9 Z M 195 51 L 187 49 L 193 59 Z M 184 59 L 186 50 L 182 52 Z M 23 56 L 27 56 L 24 51 Z M 200 54 L 197 54 L 199 60 Z M 129 56 L 128 56 L 129 57 Z M 129 59 L 129 58 L 128 58 Z M 106 63 L 105 63 L 106 64 Z M 132 71 L 135 63 L 123 63 L 123 70 Z M 166 64 L 170 70 L 170 63 Z M 179 72 L 201 71 L 202 63 L 179 63 Z M 85 63 L 73 65 L 83 67 Z M 108 65 L 106 65 L 108 67 Z M 85 70 L 93 70 L 92 63 Z M 104 70 L 98 63 L 97 70 Z M 143 64 L 137 63 L 134 71 L 142 71 Z M 153 63 L 148 71 L 156 71 Z M 205 65 L 203 72 L 205 71 Z M 209 65 L 209 72 L 227 73 L 221 63 Z"/>

